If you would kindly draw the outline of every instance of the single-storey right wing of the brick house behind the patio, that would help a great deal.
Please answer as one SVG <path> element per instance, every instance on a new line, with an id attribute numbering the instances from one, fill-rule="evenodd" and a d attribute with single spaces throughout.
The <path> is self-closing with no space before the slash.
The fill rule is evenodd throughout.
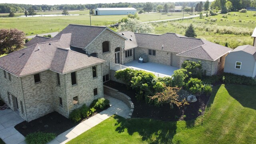
<path id="1" fill-rule="evenodd" d="M 175 66 L 181 68 L 184 60 L 201 61 L 207 76 L 221 72 L 224 68 L 225 57 L 230 48 L 202 40 L 188 38 L 174 33 L 162 35 L 140 34 L 130 31 L 118 32 L 126 37 L 124 62 L 138 60 L 142 57 L 148 62 Z"/>

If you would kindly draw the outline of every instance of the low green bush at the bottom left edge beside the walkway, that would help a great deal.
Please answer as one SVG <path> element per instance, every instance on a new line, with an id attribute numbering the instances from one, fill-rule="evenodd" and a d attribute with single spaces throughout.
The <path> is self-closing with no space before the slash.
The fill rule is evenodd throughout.
<path id="1" fill-rule="evenodd" d="M 26 136 L 27 144 L 46 144 L 56 137 L 54 133 L 33 132 Z"/>

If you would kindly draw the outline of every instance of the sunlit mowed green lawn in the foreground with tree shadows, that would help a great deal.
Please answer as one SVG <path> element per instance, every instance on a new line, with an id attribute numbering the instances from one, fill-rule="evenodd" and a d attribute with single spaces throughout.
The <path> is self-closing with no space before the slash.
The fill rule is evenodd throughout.
<path id="1" fill-rule="evenodd" d="M 115 115 L 68 144 L 255 144 L 255 93 L 252 86 L 214 86 L 202 119 L 162 122 Z"/>

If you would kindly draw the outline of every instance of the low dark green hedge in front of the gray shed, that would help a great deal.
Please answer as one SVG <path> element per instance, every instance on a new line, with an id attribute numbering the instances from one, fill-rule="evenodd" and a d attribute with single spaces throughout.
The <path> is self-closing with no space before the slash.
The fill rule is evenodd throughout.
<path id="1" fill-rule="evenodd" d="M 231 73 L 223 73 L 222 81 L 225 84 L 243 84 L 248 86 L 256 86 L 256 80 L 248 76 L 240 76 Z"/>

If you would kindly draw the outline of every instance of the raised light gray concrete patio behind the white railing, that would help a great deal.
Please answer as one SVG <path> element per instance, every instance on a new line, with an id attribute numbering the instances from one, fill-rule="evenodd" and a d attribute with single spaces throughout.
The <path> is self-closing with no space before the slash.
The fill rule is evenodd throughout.
<path id="1" fill-rule="evenodd" d="M 131 66 L 136 69 L 140 70 L 146 70 L 150 72 L 156 72 L 159 74 L 164 74 L 171 76 L 174 72 L 174 70 L 178 70 L 179 68 L 174 67 L 174 66 L 166 66 L 164 64 L 156 64 L 152 62 L 144 62 L 144 63 L 139 63 L 138 60 L 134 60 L 132 62 L 124 64 L 124 66 Z"/>

